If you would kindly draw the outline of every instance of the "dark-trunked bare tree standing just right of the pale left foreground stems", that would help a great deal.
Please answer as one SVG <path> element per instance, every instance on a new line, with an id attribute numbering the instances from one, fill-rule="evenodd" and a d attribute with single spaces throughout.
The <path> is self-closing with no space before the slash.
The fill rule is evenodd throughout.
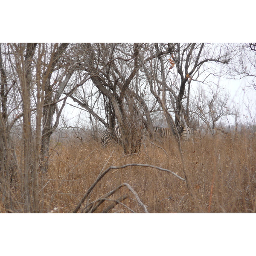
<path id="1" fill-rule="evenodd" d="M 39 44 L 44 50 L 40 66 L 35 67 L 38 83 L 44 88 L 41 169 L 48 170 L 50 137 L 59 125 L 61 112 L 69 95 L 75 92 L 87 79 L 80 69 L 83 60 L 76 44 Z M 35 79 L 34 78 L 34 79 Z M 67 96 L 61 95 L 67 90 Z"/>

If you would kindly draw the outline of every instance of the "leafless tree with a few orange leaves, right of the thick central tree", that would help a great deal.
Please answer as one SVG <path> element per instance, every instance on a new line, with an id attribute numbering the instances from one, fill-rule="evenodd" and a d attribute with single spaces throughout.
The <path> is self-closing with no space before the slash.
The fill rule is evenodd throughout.
<path id="1" fill-rule="evenodd" d="M 175 126 L 181 134 L 186 125 L 190 126 L 190 87 L 198 82 L 206 84 L 211 76 L 220 75 L 213 64 L 228 64 L 234 55 L 234 45 L 230 44 L 154 44 L 155 50 L 163 52 L 169 47 L 168 55 L 160 55 L 143 67 L 151 93 L 161 99 L 161 108 L 172 113 Z M 200 79 L 201 78 L 201 79 Z M 151 81 L 150 81 L 151 80 Z M 166 117 L 167 123 L 170 123 Z M 183 122 L 185 121 L 185 124 Z M 172 127 L 173 128 L 173 127 Z M 174 128 L 173 128 L 174 129 Z"/>

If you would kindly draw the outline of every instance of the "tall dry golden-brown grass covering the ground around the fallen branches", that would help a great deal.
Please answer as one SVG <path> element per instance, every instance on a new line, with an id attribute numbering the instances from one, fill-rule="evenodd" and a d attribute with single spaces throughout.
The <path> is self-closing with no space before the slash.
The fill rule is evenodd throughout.
<path id="1" fill-rule="evenodd" d="M 58 143 L 50 157 L 48 175 L 40 179 L 41 212 L 73 212 L 99 173 L 109 166 L 151 164 L 183 177 L 177 143 L 170 141 L 161 147 L 164 150 L 146 143 L 139 155 L 124 156 L 120 145 L 103 148 L 98 142 L 83 143 L 76 138 Z M 108 172 L 85 203 L 128 183 L 150 213 L 256 212 L 255 134 L 195 137 L 194 143 L 182 143 L 182 149 L 193 198 L 186 183 L 174 175 L 132 166 Z M 16 189 L 14 195 L 18 195 L 19 189 Z M 135 212 L 144 212 L 127 187 L 108 199 L 116 200 L 125 194 L 128 198 L 122 201 L 123 204 Z M 102 212 L 112 203 L 105 201 L 95 212 Z M 84 204 L 81 209 L 83 207 Z M 0 212 L 4 212 L 1 206 Z M 118 204 L 110 212 L 131 211 Z"/>

